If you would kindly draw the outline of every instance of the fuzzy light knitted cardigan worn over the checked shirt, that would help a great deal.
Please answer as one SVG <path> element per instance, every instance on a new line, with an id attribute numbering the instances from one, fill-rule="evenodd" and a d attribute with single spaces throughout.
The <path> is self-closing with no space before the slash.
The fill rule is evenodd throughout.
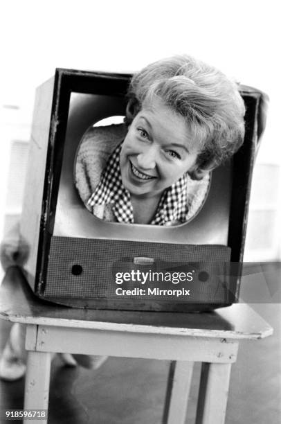
<path id="1" fill-rule="evenodd" d="M 111 204 L 87 205 L 89 197 L 100 182 L 102 171 L 107 165 L 111 153 L 117 145 L 125 139 L 127 127 L 124 124 L 109 125 L 107 127 L 91 127 L 82 137 L 78 148 L 75 163 L 75 186 L 82 201 L 89 211 L 98 218 L 116 222 Z M 203 206 L 210 186 L 210 174 L 203 179 L 194 180 L 188 175 L 188 214 L 186 221 L 194 218 Z M 181 222 L 168 222 L 167 225 L 176 225 Z"/>

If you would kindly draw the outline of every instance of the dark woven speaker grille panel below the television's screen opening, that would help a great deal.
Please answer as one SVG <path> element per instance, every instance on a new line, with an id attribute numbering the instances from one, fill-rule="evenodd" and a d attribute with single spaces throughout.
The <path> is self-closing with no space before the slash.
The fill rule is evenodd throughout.
<path id="1" fill-rule="evenodd" d="M 153 258 L 153 263 L 134 263 L 134 258 Z M 44 297 L 65 299 L 118 299 L 116 289 L 143 288 L 146 293 L 126 294 L 125 298 L 136 300 L 186 301 L 191 303 L 229 301 L 227 265 L 230 248 L 221 245 L 176 245 L 124 240 L 66 238 L 54 236 L 46 273 Z M 136 262 L 136 260 L 135 260 Z M 138 262 L 138 261 L 137 261 Z M 116 273 L 193 272 L 192 281 L 172 283 L 168 279 L 155 279 L 141 284 L 124 281 L 116 284 Z M 120 275 L 120 274 L 118 274 Z M 135 274 L 136 275 L 136 274 Z M 156 274 L 154 274 L 156 275 Z M 151 288 L 152 294 L 147 294 Z M 154 289 L 190 289 L 186 297 L 170 294 L 153 294 Z"/>

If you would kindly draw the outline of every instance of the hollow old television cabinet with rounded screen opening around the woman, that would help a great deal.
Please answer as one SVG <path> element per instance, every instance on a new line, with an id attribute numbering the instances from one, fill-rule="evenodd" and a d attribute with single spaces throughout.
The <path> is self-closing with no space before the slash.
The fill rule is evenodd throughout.
<path id="1" fill-rule="evenodd" d="M 30 249 L 28 282 L 42 299 L 81 308 L 228 306 L 239 293 L 239 267 L 234 272 L 230 264 L 243 256 L 261 94 L 242 87 L 244 145 L 212 172 L 208 197 L 194 219 L 176 227 L 116 224 L 85 208 L 73 169 L 84 132 L 103 118 L 125 115 L 129 78 L 57 69 L 37 90 L 37 105 L 44 107 L 35 107 L 21 220 Z M 121 281 L 125 273 L 130 277 Z"/>

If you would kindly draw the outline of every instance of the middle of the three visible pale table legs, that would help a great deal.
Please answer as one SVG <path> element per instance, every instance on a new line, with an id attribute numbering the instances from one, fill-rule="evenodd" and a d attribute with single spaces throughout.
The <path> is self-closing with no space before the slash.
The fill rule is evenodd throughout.
<path id="1" fill-rule="evenodd" d="M 184 424 L 193 362 L 172 361 L 167 382 L 163 424 Z"/>

